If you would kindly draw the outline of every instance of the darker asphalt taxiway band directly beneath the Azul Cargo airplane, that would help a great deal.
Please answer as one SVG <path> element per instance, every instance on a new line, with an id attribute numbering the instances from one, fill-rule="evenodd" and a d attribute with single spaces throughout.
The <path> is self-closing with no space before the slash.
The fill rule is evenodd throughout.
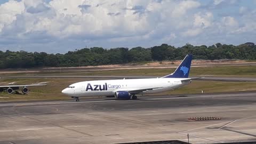
<path id="1" fill-rule="evenodd" d="M 181 107 L 211 107 L 253 105 L 256 93 L 187 95 L 181 97 L 149 97 L 138 100 L 116 100 L 114 98 L 76 101 L 46 102 L 1 102 L 0 116 L 42 115 L 60 113 L 83 113 L 86 111 L 115 111 L 163 109 Z M 57 110 L 58 109 L 58 110 Z"/>

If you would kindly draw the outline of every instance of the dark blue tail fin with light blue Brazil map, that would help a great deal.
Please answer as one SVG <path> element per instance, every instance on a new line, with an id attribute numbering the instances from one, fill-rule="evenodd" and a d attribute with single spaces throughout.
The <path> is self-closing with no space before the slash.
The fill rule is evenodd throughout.
<path id="1" fill-rule="evenodd" d="M 187 54 L 180 63 L 179 67 L 174 71 L 174 73 L 164 76 L 162 78 L 188 78 L 191 61 L 192 54 Z"/>

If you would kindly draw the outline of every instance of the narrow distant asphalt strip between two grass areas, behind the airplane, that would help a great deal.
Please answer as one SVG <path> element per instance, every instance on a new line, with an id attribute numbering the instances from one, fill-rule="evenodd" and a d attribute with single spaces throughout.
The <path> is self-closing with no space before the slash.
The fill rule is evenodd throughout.
<path id="1" fill-rule="evenodd" d="M 5 76 L 0 78 L 156 78 L 153 76 Z M 190 77 L 197 78 L 197 77 Z M 243 77 L 201 77 L 195 81 L 256 82 L 256 78 Z"/>

